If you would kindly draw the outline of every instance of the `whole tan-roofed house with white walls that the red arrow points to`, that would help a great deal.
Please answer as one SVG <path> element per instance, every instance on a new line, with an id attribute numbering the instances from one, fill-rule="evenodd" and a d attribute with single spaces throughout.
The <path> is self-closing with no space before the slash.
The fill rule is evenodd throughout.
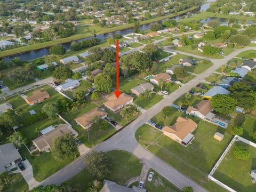
<path id="1" fill-rule="evenodd" d="M 116 98 L 116 95 L 113 94 L 107 98 L 107 102 L 103 103 L 110 110 L 117 112 L 121 110 L 126 105 L 131 105 L 133 102 L 133 97 L 127 95 L 126 93 L 122 93 Z"/>

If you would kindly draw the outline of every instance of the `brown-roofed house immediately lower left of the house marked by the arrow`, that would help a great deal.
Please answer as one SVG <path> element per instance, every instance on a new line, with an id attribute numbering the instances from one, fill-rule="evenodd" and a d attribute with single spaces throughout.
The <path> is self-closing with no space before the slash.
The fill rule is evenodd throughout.
<path id="1" fill-rule="evenodd" d="M 93 118 L 95 116 L 98 116 L 100 118 L 105 118 L 108 116 L 108 114 L 103 111 L 102 109 L 100 109 L 99 107 L 94 108 L 92 110 L 90 110 L 89 112 L 75 118 L 75 122 L 77 123 L 77 125 L 82 126 L 84 129 L 88 129 L 89 127 L 92 126 L 93 124 Z"/>

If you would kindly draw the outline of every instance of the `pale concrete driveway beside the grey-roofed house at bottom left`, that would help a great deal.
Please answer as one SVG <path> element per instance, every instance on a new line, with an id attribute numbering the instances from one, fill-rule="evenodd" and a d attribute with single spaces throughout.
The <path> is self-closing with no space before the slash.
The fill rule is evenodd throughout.
<path id="1" fill-rule="evenodd" d="M 23 165 L 25 166 L 25 170 L 21 171 L 20 173 L 22 174 L 23 178 L 26 180 L 28 183 L 28 188 L 33 189 L 34 187 L 39 185 L 39 182 L 35 180 L 34 174 L 33 174 L 33 167 L 29 163 L 28 159 L 23 161 Z"/>

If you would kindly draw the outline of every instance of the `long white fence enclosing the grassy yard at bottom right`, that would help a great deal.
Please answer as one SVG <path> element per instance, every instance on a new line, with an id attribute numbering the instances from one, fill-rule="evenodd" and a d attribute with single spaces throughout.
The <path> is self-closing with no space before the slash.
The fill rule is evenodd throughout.
<path id="1" fill-rule="evenodd" d="M 214 165 L 213 169 L 211 170 L 211 172 L 209 173 L 208 175 L 208 178 L 210 180 L 212 180 L 213 182 L 217 183 L 218 185 L 220 185 L 221 187 L 227 189 L 228 191 L 231 191 L 231 192 L 236 192 L 234 189 L 228 187 L 227 185 L 225 185 L 224 183 L 220 182 L 219 180 L 213 178 L 213 174 L 214 172 L 217 170 L 218 166 L 220 165 L 221 161 L 223 160 L 223 158 L 226 156 L 226 154 L 228 153 L 229 149 L 231 148 L 231 146 L 233 145 L 233 143 L 235 141 L 242 141 L 250 146 L 253 146 L 256 148 L 256 143 L 254 142 L 251 142 L 247 139 L 244 139 L 238 135 L 235 135 L 235 137 L 231 140 L 231 142 L 229 143 L 228 147 L 225 149 L 225 151 L 223 152 L 223 154 L 221 155 L 221 157 L 219 158 L 218 162 Z"/>

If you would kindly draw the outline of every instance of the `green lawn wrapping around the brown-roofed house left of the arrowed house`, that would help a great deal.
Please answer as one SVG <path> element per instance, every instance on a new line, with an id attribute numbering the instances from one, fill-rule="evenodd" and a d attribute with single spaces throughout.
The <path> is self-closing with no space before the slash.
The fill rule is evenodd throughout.
<path id="1" fill-rule="evenodd" d="M 89 131 L 89 139 L 88 140 L 88 135 L 87 135 L 87 130 L 84 130 L 81 126 L 77 125 L 75 122 L 75 118 L 78 116 L 81 116 L 88 111 L 94 109 L 97 107 L 94 103 L 90 102 L 84 107 L 80 107 L 75 110 L 71 110 L 69 113 L 62 115 L 63 118 L 65 118 L 71 125 L 72 127 L 78 132 L 78 139 L 80 139 L 84 145 L 87 147 L 93 147 L 100 143 L 101 141 L 105 140 L 108 138 L 111 134 L 115 132 L 115 128 L 113 126 L 109 126 L 108 129 L 106 130 L 99 130 L 99 129 L 90 129 Z"/>

